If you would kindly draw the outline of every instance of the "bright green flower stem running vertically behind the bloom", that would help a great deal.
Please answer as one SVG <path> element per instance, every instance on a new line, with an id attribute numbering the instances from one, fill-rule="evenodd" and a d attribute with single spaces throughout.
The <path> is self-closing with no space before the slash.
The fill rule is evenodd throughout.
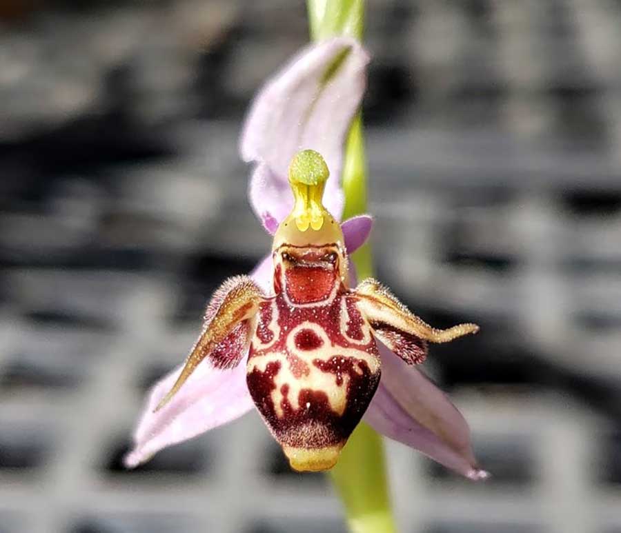
<path id="1" fill-rule="evenodd" d="M 348 35 L 362 41 L 364 0 L 307 0 L 311 38 L 319 41 Z M 357 114 L 349 131 L 343 165 L 345 194 L 343 219 L 366 212 L 366 163 L 362 115 Z M 360 279 L 373 275 L 371 245 L 352 254 Z M 339 462 L 330 472 L 342 499 L 352 533 L 395 533 L 382 438 L 360 423 L 345 445 Z"/>

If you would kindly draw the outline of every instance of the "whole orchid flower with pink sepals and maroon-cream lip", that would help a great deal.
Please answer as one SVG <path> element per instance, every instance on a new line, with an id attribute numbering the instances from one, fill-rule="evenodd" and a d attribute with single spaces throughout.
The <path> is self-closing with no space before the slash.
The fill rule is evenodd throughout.
<path id="1" fill-rule="evenodd" d="M 367 62 L 353 39 L 330 39 L 259 93 L 241 152 L 255 162 L 249 196 L 273 234 L 271 254 L 213 294 L 186 363 L 149 394 L 128 467 L 256 408 L 295 470 L 333 467 L 364 417 L 471 479 L 487 476 L 466 421 L 415 368 L 428 342 L 478 327 L 437 330 L 377 281 L 351 287 L 348 254 L 372 219 L 339 223 L 338 177 Z"/>

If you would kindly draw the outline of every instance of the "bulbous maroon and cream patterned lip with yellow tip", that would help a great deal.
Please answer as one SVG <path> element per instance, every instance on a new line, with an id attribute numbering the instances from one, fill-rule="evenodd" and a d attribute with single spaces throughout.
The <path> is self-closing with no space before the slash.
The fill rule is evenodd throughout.
<path id="1" fill-rule="evenodd" d="M 292 466 L 325 470 L 373 398 L 380 357 L 355 296 L 334 269 L 325 268 L 324 276 L 331 276 L 337 290 L 323 291 L 320 301 L 306 284 L 291 286 L 308 267 L 289 270 L 302 272 L 284 276 L 286 286 L 260 307 L 248 356 L 248 390 Z"/>

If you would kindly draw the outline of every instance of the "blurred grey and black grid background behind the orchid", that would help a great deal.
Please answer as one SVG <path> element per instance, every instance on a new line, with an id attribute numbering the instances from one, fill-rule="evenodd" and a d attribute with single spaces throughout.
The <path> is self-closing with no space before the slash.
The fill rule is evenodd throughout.
<path id="1" fill-rule="evenodd" d="M 0 2 L 1 533 L 344 531 L 255 414 L 120 463 L 268 249 L 237 136 L 306 36 L 301 1 Z M 494 474 L 388 443 L 402 531 L 621 532 L 621 2 L 371 0 L 367 36 L 378 275 L 482 325 L 425 366 Z"/>

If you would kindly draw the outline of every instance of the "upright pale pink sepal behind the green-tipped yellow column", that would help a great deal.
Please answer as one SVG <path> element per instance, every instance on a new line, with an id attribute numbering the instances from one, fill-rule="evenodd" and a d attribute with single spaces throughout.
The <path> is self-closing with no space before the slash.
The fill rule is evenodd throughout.
<path id="1" fill-rule="evenodd" d="M 344 142 L 362 101 L 368 61 L 354 39 L 328 39 L 302 50 L 257 94 L 239 148 L 244 161 L 257 163 L 249 192 L 262 221 L 266 216 L 282 221 L 283 208 L 285 215 L 289 212 L 293 197 L 288 191 L 288 164 L 296 152 L 308 148 L 326 160 L 331 178 L 324 205 L 340 219 Z M 266 168 L 259 168 L 262 165 Z"/>

